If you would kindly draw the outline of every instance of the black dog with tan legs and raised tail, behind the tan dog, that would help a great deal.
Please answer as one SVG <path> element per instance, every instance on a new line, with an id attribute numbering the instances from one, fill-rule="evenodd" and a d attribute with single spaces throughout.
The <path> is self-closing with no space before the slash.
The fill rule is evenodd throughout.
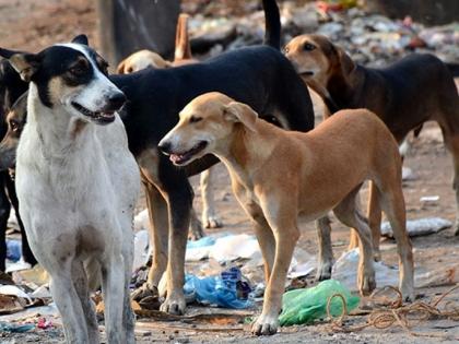
<path id="1" fill-rule="evenodd" d="M 113 75 L 126 94 L 122 120 L 129 147 L 142 174 L 154 230 L 153 266 L 146 285 L 134 294 L 149 295 L 158 285 L 167 264 L 167 298 L 162 310 L 185 310 L 185 248 L 192 203 L 188 176 L 216 162 L 209 157 L 177 168 L 157 150 L 160 140 L 177 123 L 178 112 L 200 94 L 217 91 L 248 104 L 284 128 L 308 131 L 314 111 L 307 88 L 280 52 L 280 17 L 274 0 L 263 0 L 266 45 L 237 49 L 199 64 L 166 70 L 148 69 Z"/>

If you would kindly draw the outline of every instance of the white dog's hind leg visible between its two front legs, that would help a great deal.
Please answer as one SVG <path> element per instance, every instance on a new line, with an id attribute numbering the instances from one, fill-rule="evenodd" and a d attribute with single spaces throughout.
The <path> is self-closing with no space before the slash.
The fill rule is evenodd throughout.
<path id="1" fill-rule="evenodd" d="M 95 263 L 97 266 L 98 264 Z M 90 288 L 89 288 L 89 278 L 83 266 L 83 263 L 79 260 L 72 262 L 72 276 L 73 285 L 76 290 L 76 294 L 80 298 L 81 306 L 83 307 L 83 312 L 85 316 L 86 327 L 87 327 L 87 336 L 90 339 L 89 343 L 99 343 L 98 339 L 98 325 L 95 313 L 94 304 L 91 300 Z M 90 275 L 90 278 L 93 278 L 93 275 Z"/>

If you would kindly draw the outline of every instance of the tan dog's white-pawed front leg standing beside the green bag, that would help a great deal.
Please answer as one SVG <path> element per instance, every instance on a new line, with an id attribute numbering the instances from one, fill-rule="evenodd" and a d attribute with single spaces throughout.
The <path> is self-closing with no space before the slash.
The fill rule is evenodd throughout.
<path id="1" fill-rule="evenodd" d="M 251 332 L 257 335 L 274 334 L 278 331 L 285 278 L 295 245 L 299 238 L 294 204 L 292 202 L 274 202 L 279 201 L 272 200 L 271 202 L 263 202 L 264 205 L 262 204 L 263 213 L 275 238 L 275 258 L 264 292 L 262 312 L 251 327 Z M 279 209 L 273 211 L 275 207 Z M 273 211 L 273 213 L 271 214 L 270 211 Z"/>

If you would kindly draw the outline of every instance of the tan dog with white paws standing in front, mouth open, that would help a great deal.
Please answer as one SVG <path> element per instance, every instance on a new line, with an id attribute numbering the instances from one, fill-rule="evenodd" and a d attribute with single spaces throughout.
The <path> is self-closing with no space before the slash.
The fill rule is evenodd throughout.
<path id="1" fill-rule="evenodd" d="M 400 289 L 413 299 L 401 158 L 386 126 L 364 109 L 340 111 L 307 133 L 284 131 L 257 117 L 245 104 L 208 93 L 184 108 L 178 124 L 158 144 L 175 165 L 211 153 L 228 168 L 233 190 L 254 221 L 268 281 L 252 332 L 272 334 L 278 329 L 299 213 L 314 221 L 333 210 L 343 224 L 356 228 L 362 241 L 358 288 L 364 295 L 375 288 L 370 232 L 356 202 L 367 179 L 375 181 L 395 232 Z"/>

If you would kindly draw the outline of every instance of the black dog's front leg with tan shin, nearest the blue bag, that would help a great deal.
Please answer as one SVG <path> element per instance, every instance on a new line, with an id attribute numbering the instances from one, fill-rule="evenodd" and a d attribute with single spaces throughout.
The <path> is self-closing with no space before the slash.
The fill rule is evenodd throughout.
<path id="1" fill-rule="evenodd" d="M 186 177 L 184 177 L 181 185 L 178 180 L 176 182 L 175 189 L 167 194 L 169 259 L 167 264 L 167 297 L 161 305 L 161 310 L 173 315 L 183 315 L 186 308 L 184 295 L 185 250 L 190 224 L 192 189 Z"/>

